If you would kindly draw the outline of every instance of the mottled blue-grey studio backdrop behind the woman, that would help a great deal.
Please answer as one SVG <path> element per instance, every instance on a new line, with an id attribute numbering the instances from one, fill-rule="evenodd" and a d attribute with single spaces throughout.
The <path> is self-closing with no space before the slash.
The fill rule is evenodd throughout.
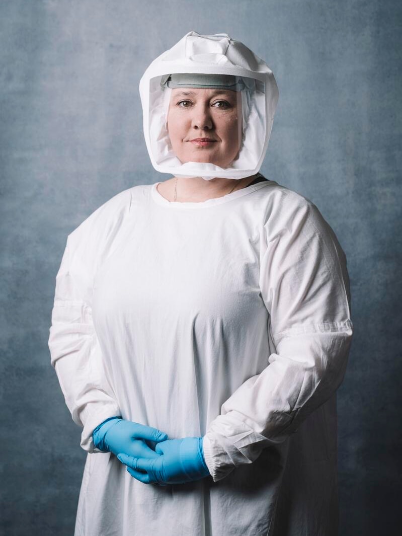
<path id="1" fill-rule="evenodd" d="M 94 209 L 168 178 L 148 160 L 138 83 L 192 29 L 243 41 L 276 75 L 262 172 L 319 207 L 351 277 L 340 536 L 399 534 L 398 0 L 0 2 L 0 532 L 73 533 L 85 453 L 49 364 L 55 276 L 66 236 Z"/>

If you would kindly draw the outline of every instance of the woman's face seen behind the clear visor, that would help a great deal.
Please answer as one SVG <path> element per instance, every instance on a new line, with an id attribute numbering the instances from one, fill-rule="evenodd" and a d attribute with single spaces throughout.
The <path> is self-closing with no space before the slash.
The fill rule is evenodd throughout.
<path id="1" fill-rule="evenodd" d="M 241 94 L 231 90 L 175 88 L 167 126 L 170 143 L 182 162 L 209 162 L 226 168 L 242 138 Z"/>

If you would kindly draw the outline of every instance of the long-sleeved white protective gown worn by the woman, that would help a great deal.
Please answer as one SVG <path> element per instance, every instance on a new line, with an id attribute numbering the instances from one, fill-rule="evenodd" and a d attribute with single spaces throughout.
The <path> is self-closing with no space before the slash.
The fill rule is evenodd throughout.
<path id="1" fill-rule="evenodd" d="M 76 536 L 336 536 L 346 259 L 274 181 L 200 203 L 125 190 L 69 236 L 49 347 L 88 451 Z M 110 416 L 204 436 L 211 477 L 159 487 L 94 450 Z"/>

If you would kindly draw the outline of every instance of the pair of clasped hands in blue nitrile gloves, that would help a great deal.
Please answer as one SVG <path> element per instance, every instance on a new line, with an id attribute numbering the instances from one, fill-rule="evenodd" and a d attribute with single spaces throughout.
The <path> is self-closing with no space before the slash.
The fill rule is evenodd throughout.
<path id="1" fill-rule="evenodd" d="M 132 477 L 145 484 L 182 484 L 207 477 L 202 437 L 169 440 L 150 426 L 112 417 L 92 434 L 97 449 L 112 452 Z M 148 445 L 155 443 L 155 450 Z"/>

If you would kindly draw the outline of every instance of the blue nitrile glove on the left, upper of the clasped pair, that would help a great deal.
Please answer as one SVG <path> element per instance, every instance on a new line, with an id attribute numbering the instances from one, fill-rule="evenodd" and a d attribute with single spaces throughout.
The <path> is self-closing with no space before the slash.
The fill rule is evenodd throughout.
<path id="1" fill-rule="evenodd" d="M 113 452 L 116 456 L 122 452 L 129 456 L 150 459 L 159 458 L 160 455 L 150 448 L 146 441 L 158 443 L 165 441 L 168 435 L 157 428 L 112 417 L 96 427 L 92 437 L 96 448 L 104 452 Z"/>

